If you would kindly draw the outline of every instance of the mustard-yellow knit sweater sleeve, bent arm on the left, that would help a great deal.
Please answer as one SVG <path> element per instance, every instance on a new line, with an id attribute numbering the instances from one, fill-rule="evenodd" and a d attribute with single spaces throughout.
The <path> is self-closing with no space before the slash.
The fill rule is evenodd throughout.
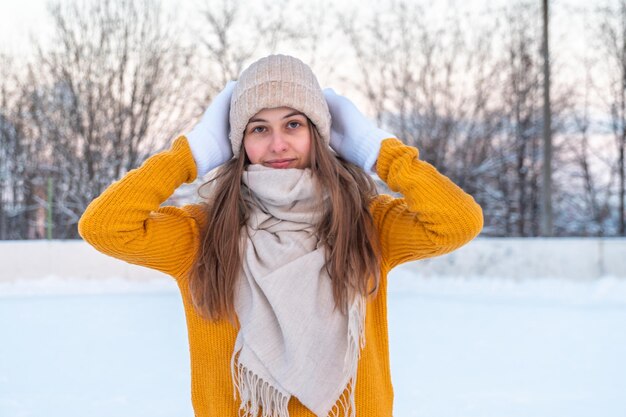
<path id="1" fill-rule="evenodd" d="M 183 182 L 196 178 L 184 136 L 148 158 L 93 200 L 78 231 L 100 252 L 179 277 L 193 265 L 201 206 L 160 207 Z"/>

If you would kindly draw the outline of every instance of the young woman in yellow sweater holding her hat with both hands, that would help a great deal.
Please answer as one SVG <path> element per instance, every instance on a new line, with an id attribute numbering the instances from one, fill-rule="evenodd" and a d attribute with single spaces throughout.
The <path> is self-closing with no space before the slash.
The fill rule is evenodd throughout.
<path id="1" fill-rule="evenodd" d="M 207 201 L 160 207 L 219 167 Z M 403 198 L 377 195 L 376 172 Z M 197 417 L 392 415 L 387 273 L 482 228 L 418 150 L 263 58 L 200 123 L 95 199 L 81 236 L 165 272 L 182 294 Z"/>

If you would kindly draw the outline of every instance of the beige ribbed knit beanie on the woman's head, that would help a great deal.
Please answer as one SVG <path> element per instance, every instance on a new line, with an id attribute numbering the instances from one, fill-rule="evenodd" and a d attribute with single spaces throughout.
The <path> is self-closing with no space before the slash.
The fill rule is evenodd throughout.
<path id="1" fill-rule="evenodd" d="M 263 109 L 291 107 L 304 113 L 324 142 L 330 142 L 330 112 L 317 78 L 304 62 L 286 55 L 261 58 L 239 77 L 230 101 L 230 143 L 237 157 L 252 116 Z"/>

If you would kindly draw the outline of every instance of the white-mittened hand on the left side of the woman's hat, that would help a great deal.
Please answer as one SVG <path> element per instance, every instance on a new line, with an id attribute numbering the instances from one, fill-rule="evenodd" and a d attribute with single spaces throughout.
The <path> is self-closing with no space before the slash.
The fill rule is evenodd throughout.
<path id="1" fill-rule="evenodd" d="M 233 157 L 228 134 L 230 131 L 230 99 L 237 83 L 229 81 L 213 99 L 202 119 L 186 134 L 196 161 L 198 176 L 222 165 Z"/>

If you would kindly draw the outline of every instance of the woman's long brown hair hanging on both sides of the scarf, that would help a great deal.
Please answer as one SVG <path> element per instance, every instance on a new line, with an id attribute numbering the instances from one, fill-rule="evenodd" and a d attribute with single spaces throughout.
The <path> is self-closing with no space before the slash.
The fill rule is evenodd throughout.
<path id="1" fill-rule="evenodd" d="M 378 289 L 380 248 L 369 203 L 374 181 L 362 169 L 335 155 L 311 121 L 311 171 L 329 193 L 330 208 L 317 225 L 326 246 L 326 270 L 332 280 L 335 305 L 345 312 L 355 294 Z M 222 165 L 201 190 L 213 187 L 206 203 L 207 224 L 190 276 L 189 289 L 198 313 L 211 320 L 236 321 L 235 283 L 241 272 L 241 230 L 248 218 L 241 177 L 249 164 L 242 149 Z"/>

